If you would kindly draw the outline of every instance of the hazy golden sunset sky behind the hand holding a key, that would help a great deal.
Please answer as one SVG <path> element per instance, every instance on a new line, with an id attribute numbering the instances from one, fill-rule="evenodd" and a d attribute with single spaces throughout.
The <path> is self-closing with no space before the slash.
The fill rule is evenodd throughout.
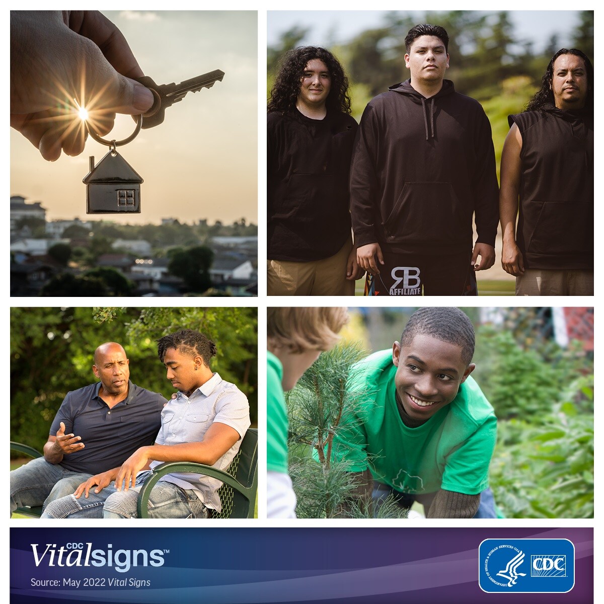
<path id="1" fill-rule="evenodd" d="M 257 222 L 256 11 L 103 11 L 122 31 L 146 76 L 157 84 L 182 82 L 214 69 L 225 76 L 213 88 L 188 93 L 165 112 L 164 123 L 141 130 L 120 155 L 144 179 L 141 213 L 86 215 L 88 157 L 109 147 L 91 138 L 82 155 L 56 162 L 11 129 L 11 195 L 40 201 L 47 219 L 109 219 L 123 223 L 207 218 Z M 105 138 L 126 138 L 129 116 L 118 116 Z"/>

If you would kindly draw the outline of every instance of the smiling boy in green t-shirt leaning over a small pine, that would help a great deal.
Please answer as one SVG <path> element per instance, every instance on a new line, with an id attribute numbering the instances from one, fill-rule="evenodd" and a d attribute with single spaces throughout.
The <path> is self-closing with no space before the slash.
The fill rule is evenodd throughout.
<path id="1" fill-rule="evenodd" d="M 488 489 L 496 417 L 470 374 L 474 327 L 454 307 L 417 310 L 392 350 L 355 365 L 357 403 L 334 439 L 357 496 L 392 493 L 428 518 L 495 518 Z M 344 510 L 345 512 L 345 510 Z"/>

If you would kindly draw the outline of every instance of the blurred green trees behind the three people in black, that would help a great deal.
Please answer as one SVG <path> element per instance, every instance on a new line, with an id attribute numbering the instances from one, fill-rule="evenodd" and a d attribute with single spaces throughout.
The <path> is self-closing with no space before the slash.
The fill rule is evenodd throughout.
<path id="1" fill-rule="evenodd" d="M 593 62 L 594 11 L 577 13 L 579 23 L 572 33 L 571 46 L 585 52 Z M 422 16 L 411 16 L 405 11 L 384 13 L 380 27 L 362 31 L 346 43 L 317 42 L 329 48 L 344 66 L 350 80 L 352 114 L 357 121 L 371 98 L 409 77 L 404 40 L 417 23 L 435 23 L 447 30 L 451 68 L 446 78 L 454 82 L 458 92 L 477 98 L 483 105 L 493 130 L 499 170 L 501 149 L 509 130 L 507 116 L 521 112 L 538 91 L 545 68 L 561 43 L 554 34 L 545 48 L 536 49 L 532 40 L 519 37 L 509 11 L 426 11 Z M 267 97 L 279 60 L 286 51 L 301 45 L 307 34 L 306 28 L 293 27 L 267 49 Z"/>

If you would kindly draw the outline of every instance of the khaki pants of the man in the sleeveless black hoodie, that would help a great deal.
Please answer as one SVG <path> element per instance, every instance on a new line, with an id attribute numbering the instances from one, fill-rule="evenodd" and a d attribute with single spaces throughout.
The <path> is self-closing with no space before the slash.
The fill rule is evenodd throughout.
<path id="1" fill-rule="evenodd" d="M 517 296 L 593 296 L 594 271 L 527 269 L 516 277 Z"/>

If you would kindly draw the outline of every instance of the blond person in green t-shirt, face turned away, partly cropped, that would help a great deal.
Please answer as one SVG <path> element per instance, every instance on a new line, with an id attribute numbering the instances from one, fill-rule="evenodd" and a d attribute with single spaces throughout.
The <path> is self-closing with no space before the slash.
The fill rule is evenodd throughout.
<path id="1" fill-rule="evenodd" d="M 284 307 L 266 310 L 266 515 L 295 518 L 296 496 L 288 473 L 288 412 L 284 390 L 339 339 L 348 321 L 338 308 Z"/>

